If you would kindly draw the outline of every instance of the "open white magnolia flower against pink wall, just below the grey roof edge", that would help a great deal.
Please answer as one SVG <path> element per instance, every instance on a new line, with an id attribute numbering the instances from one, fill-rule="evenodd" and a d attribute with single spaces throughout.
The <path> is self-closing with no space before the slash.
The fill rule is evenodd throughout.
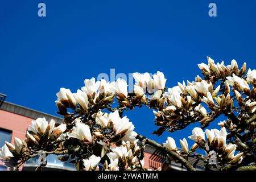
<path id="1" fill-rule="evenodd" d="M 33 131 L 35 134 L 43 135 L 46 132 L 48 127 L 48 122 L 46 118 L 38 118 L 36 120 L 31 121 L 31 125 L 28 126 L 28 131 Z"/>

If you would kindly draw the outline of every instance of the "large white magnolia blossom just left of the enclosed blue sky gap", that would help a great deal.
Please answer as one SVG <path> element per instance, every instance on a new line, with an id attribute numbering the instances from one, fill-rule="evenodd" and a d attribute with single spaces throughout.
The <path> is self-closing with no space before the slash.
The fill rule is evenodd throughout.
<path id="1" fill-rule="evenodd" d="M 121 135 L 122 140 L 134 141 L 137 133 L 134 130 L 134 125 L 128 118 L 120 118 L 118 111 L 109 114 L 109 118 L 114 124 L 115 135 Z"/>

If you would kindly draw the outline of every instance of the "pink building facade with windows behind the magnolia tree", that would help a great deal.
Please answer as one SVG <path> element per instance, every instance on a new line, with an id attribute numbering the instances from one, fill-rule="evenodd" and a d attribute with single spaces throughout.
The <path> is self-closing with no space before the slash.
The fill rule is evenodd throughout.
<path id="1" fill-rule="evenodd" d="M 47 121 L 54 119 L 56 123 L 62 122 L 62 119 L 55 115 L 50 115 L 6 101 L 2 102 L 0 107 L 0 147 L 5 144 L 5 141 L 14 143 L 14 137 L 25 139 L 27 127 L 31 124 L 31 121 L 36 118 L 46 118 Z M 28 162 L 23 165 L 22 170 L 35 170 L 35 168 L 39 166 L 37 160 L 38 158 L 28 160 Z M 189 158 L 189 161 L 191 163 L 196 162 L 193 158 Z M 169 162 L 163 152 L 148 145 L 144 152 L 144 167 L 151 169 L 162 167 L 165 170 L 185 170 L 181 164 Z M 201 161 L 197 162 L 196 168 L 203 169 L 203 163 Z M 56 155 L 48 155 L 47 166 L 44 167 L 44 169 L 75 170 L 75 167 L 69 162 L 60 162 Z M 0 161 L 0 171 L 1 170 L 7 170 L 7 168 Z"/>

